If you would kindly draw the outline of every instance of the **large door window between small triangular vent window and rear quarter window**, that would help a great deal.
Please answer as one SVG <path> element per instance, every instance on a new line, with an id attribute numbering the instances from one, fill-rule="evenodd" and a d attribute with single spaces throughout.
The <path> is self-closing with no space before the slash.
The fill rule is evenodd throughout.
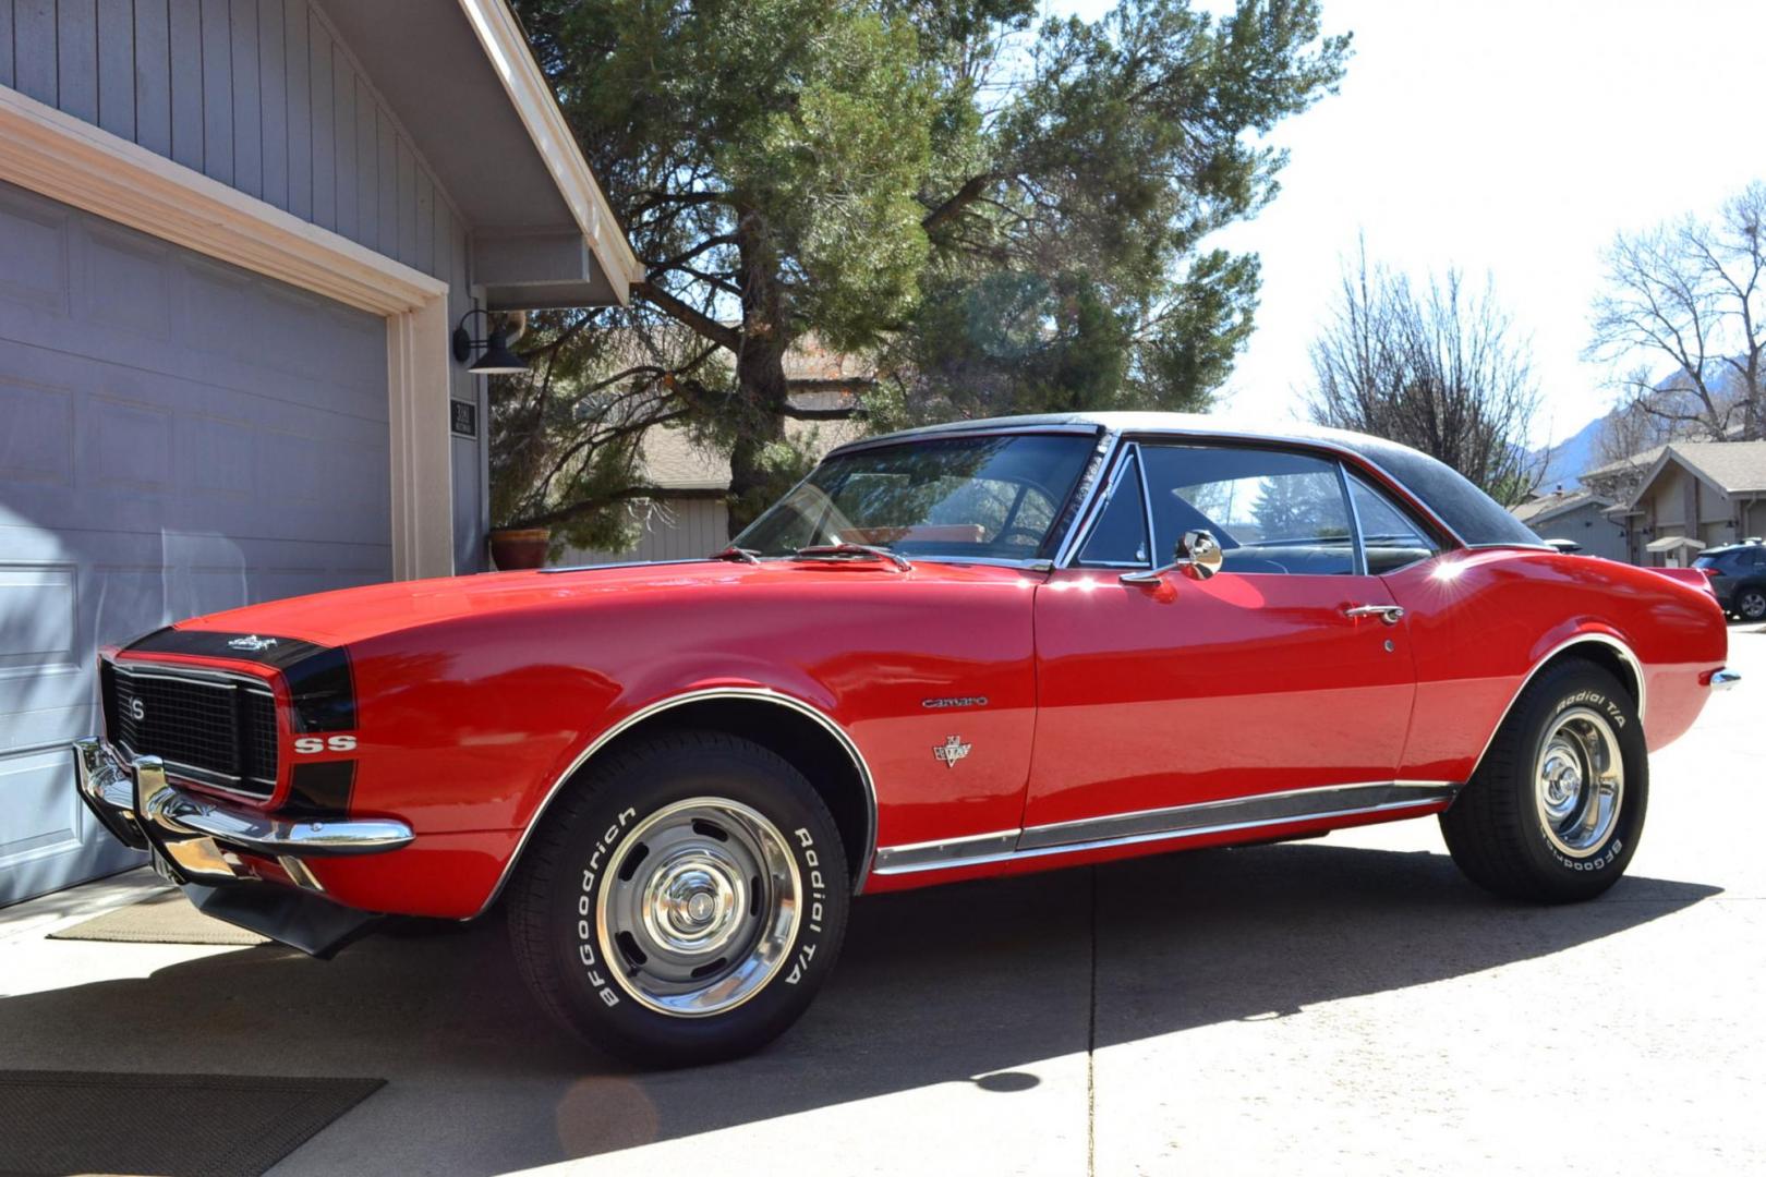
<path id="1" fill-rule="evenodd" d="M 1206 528 L 1224 572 L 1349 575 L 1355 542 L 1337 464 L 1245 446 L 1141 448 L 1153 508 L 1153 551 Z"/>

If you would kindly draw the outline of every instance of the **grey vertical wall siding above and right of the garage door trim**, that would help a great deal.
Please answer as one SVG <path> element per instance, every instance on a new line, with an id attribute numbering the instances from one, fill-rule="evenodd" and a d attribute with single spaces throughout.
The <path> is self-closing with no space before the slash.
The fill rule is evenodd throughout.
<path id="1" fill-rule="evenodd" d="M 472 307 L 468 226 L 307 0 L 0 0 L 0 85 L 449 284 Z M 452 441 L 456 566 L 482 566 L 484 381 Z"/>

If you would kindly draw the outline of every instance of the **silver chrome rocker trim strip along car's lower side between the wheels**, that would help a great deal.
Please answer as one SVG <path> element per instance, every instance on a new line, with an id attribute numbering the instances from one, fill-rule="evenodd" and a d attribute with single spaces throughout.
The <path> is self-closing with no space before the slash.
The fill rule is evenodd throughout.
<path id="1" fill-rule="evenodd" d="M 1294 822 L 1362 817 L 1425 808 L 1452 801 L 1460 785 L 1448 780 L 1383 780 L 1351 785 L 1286 789 L 1219 801 L 1197 801 L 1155 810 L 1084 817 L 1019 831 L 996 831 L 941 842 L 879 847 L 876 875 L 909 875 L 992 863 L 1077 854 L 1083 851 L 1201 838 L 1215 833 L 1289 826 Z M 1319 801 L 1321 805 L 1312 805 Z M 1005 843 L 1015 842 L 1010 847 Z"/>

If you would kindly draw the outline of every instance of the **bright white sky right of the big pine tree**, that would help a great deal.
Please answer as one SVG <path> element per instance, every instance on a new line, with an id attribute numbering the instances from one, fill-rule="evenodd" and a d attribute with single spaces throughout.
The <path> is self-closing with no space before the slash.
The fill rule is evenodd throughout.
<path id="1" fill-rule="evenodd" d="M 1097 16 L 1104 0 L 1044 0 Z M 1201 7 L 1229 11 L 1229 4 Z M 1600 251 L 1766 178 L 1761 0 L 1324 0 L 1355 32 L 1342 92 L 1277 129 L 1282 194 L 1219 235 L 1263 256 L 1257 334 L 1226 406 L 1302 415 L 1307 344 L 1356 235 L 1422 274 L 1457 265 L 1531 334 L 1551 439 L 1605 411 L 1584 364 Z M 1545 436 L 1535 441 L 1547 441 Z"/>

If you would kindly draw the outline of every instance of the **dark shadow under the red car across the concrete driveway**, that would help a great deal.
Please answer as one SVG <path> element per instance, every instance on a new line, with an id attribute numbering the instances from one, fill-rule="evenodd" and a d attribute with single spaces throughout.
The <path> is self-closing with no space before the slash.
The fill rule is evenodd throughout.
<path id="1" fill-rule="evenodd" d="M 0 999 L 0 1066 L 383 1076 L 290 1168 L 491 1173 L 931 1083 L 1008 1099 L 1042 1059 L 1475 974 L 1717 893 L 1625 879 L 1593 903 L 1529 907 L 1443 854 L 1298 843 L 878 896 L 784 1039 L 668 1073 L 556 1031 L 493 918 L 330 962 L 261 946 Z M 1095 1016 L 1100 971 L 1111 1008 Z"/>

